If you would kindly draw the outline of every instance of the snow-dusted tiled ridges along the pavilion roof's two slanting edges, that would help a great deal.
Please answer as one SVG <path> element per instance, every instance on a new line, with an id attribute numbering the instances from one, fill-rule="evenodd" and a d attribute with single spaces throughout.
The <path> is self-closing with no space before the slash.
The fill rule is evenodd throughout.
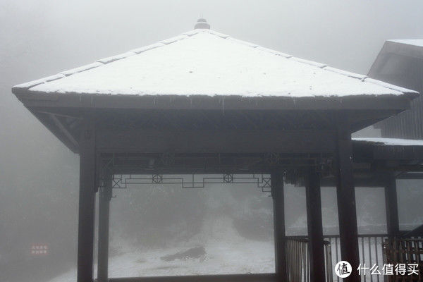
<path id="1" fill-rule="evenodd" d="M 324 69 L 325 71 L 331 71 L 331 72 L 337 73 L 339 75 L 345 75 L 345 76 L 348 76 L 350 78 L 355 78 L 357 80 L 360 80 L 362 82 L 373 83 L 373 84 L 379 85 L 381 87 L 385 87 L 389 90 L 394 90 L 394 91 L 400 92 L 397 95 L 400 95 L 401 93 L 403 93 L 403 94 L 416 94 L 416 97 L 418 95 L 418 92 L 416 92 L 414 90 L 409 90 L 409 89 L 406 89 L 406 88 L 403 88 L 403 87 L 398 87 L 396 85 L 391 85 L 389 83 L 382 82 L 380 80 L 374 80 L 372 78 L 367 77 L 367 75 L 351 73 L 351 72 L 348 72 L 348 71 L 343 71 L 343 70 L 338 69 L 338 68 L 332 68 L 330 66 L 327 66 L 324 63 L 317 63 L 317 62 L 314 62 L 314 61 L 308 61 L 308 60 L 305 60 L 305 59 L 296 58 L 294 56 L 290 56 L 288 54 L 284 54 L 284 53 L 281 53 L 279 51 L 275 51 L 275 50 L 272 50 L 272 49 L 267 49 L 265 47 L 261 47 L 257 44 L 253 44 L 253 43 L 250 43 L 250 42 L 245 42 L 245 41 L 242 41 L 242 40 L 239 40 L 239 39 L 235 39 L 233 37 L 229 37 L 228 35 L 224 35 L 220 32 L 215 32 L 214 30 L 205 30 L 205 29 L 191 30 L 189 32 L 183 33 L 182 35 L 178 35 L 176 37 L 171 37 L 169 39 L 162 40 L 161 42 L 157 42 L 155 44 L 147 45 L 145 47 L 141 47 L 141 48 L 138 48 L 138 49 L 133 49 L 133 50 L 130 50 L 130 51 L 125 52 L 123 54 L 118 54 L 116 56 L 111 56 L 111 57 L 108 57 L 108 58 L 99 59 L 99 60 L 95 61 L 94 63 L 90 63 L 90 64 L 85 65 L 85 66 L 73 68 L 73 69 L 68 70 L 68 71 L 62 71 L 61 73 L 57 73 L 56 75 L 51 75 L 51 76 L 48 76 L 46 78 L 41 78 L 41 79 L 38 79 L 38 80 L 32 80 L 30 82 L 25 82 L 25 83 L 22 83 L 22 84 L 19 84 L 19 85 L 15 85 L 15 86 L 12 87 L 12 92 L 14 94 L 21 93 L 21 92 L 27 92 L 25 90 L 30 90 L 30 88 L 35 87 L 37 85 L 40 85 L 42 83 L 46 83 L 46 82 L 50 82 L 50 81 L 54 81 L 54 80 L 59 80 L 61 78 L 66 78 L 66 77 L 73 75 L 75 73 L 81 73 L 83 71 L 91 70 L 92 68 L 98 68 L 98 67 L 104 66 L 108 63 L 112 63 L 114 61 L 118 61 L 118 60 L 121 60 L 121 59 L 128 58 L 129 56 L 135 56 L 137 54 L 141 54 L 141 53 L 143 53 L 145 51 L 149 51 L 151 49 L 156 49 L 156 48 L 159 48 L 159 47 L 166 46 L 168 44 L 172 44 L 173 42 L 178 42 L 180 40 L 191 37 L 192 35 L 197 35 L 200 32 L 208 32 L 212 35 L 216 35 L 216 36 L 221 37 L 223 39 L 231 40 L 231 42 L 236 42 L 238 44 L 243 44 L 243 45 L 251 47 L 251 48 L 266 51 L 266 52 L 269 52 L 269 53 L 274 54 L 276 56 L 283 56 L 286 59 L 290 59 L 290 60 L 296 61 L 298 63 L 306 63 L 310 66 L 315 66 L 317 68 Z M 24 91 L 22 91 L 22 90 L 24 90 Z M 28 91 L 27 93 L 30 93 L 30 92 L 31 91 Z M 37 94 L 38 92 L 31 92 L 31 93 Z M 59 92 L 56 92 L 56 93 L 59 94 Z M 60 93 L 60 94 L 62 94 L 62 93 Z M 78 93 L 78 94 L 94 94 L 94 93 Z M 104 93 L 104 94 L 107 94 L 107 93 Z M 365 93 L 363 93 L 363 94 L 365 94 Z M 387 94 L 395 95 L 393 93 L 387 93 Z M 133 95 L 134 96 L 142 96 L 142 94 L 133 94 Z M 359 95 L 360 94 L 349 95 L 349 96 L 359 96 Z M 366 95 L 373 95 L 373 94 L 366 94 Z M 383 94 L 378 94 L 378 95 L 383 95 Z M 239 96 L 243 96 L 243 95 L 240 94 Z M 278 95 L 275 95 L 275 96 L 278 96 Z M 309 97 L 337 97 L 337 95 L 333 95 L 333 96 L 330 96 L 330 95 L 310 95 Z"/>

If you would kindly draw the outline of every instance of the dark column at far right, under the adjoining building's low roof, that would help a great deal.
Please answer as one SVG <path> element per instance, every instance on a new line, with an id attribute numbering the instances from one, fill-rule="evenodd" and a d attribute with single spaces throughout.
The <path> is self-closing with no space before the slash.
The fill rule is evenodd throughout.
<path id="1" fill-rule="evenodd" d="M 398 237 L 400 223 L 398 219 L 398 202 L 396 190 L 396 178 L 394 173 L 385 176 L 385 207 L 386 207 L 386 231 L 389 237 Z"/>

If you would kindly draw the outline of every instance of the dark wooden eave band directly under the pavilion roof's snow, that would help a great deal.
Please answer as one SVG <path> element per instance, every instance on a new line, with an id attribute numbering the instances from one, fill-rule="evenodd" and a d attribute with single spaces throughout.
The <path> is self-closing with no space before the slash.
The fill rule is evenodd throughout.
<path id="1" fill-rule="evenodd" d="M 14 90 L 27 108 L 47 106 L 80 109 L 204 109 L 204 110 L 370 110 L 399 113 L 410 109 L 409 94 L 334 97 L 274 97 L 240 95 L 125 95 L 31 92 Z M 410 94 L 415 95 L 415 94 Z"/>

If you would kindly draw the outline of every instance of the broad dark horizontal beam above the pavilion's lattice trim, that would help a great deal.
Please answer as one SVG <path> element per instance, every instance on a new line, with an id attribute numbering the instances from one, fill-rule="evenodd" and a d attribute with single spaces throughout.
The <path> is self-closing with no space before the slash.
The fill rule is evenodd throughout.
<path id="1" fill-rule="evenodd" d="M 327 153 L 335 150 L 330 130 L 101 130 L 102 152 L 143 153 Z"/>

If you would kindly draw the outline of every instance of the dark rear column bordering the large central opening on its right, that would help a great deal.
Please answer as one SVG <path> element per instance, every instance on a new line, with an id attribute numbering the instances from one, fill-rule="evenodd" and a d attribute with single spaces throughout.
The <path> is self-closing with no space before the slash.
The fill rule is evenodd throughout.
<path id="1" fill-rule="evenodd" d="M 283 200 L 283 172 L 271 173 L 271 195 L 274 202 L 274 243 L 275 266 L 278 281 L 287 281 L 286 240 L 285 240 L 285 203 Z"/>

